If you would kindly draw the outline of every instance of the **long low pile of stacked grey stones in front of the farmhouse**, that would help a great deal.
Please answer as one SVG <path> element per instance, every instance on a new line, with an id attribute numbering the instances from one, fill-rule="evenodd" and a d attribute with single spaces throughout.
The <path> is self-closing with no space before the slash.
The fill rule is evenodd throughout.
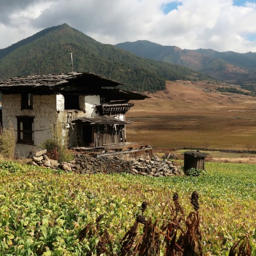
<path id="1" fill-rule="evenodd" d="M 117 157 L 95 158 L 88 155 L 75 155 L 75 159 L 69 162 L 58 163 L 49 159 L 46 151 L 37 152 L 31 165 L 45 166 L 52 169 L 62 169 L 66 172 L 77 174 L 97 174 L 97 173 L 131 173 L 136 175 L 150 175 L 154 177 L 180 175 L 179 166 L 169 160 L 144 159 L 120 160 Z"/>

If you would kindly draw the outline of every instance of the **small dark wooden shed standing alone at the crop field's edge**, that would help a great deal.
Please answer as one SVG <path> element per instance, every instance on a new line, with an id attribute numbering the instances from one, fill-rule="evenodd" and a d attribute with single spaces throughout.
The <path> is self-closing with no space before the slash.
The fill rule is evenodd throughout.
<path id="1" fill-rule="evenodd" d="M 184 172 L 190 168 L 204 170 L 205 157 L 208 155 L 208 153 L 201 153 L 199 151 L 186 151 L 184 153 Z"/>

